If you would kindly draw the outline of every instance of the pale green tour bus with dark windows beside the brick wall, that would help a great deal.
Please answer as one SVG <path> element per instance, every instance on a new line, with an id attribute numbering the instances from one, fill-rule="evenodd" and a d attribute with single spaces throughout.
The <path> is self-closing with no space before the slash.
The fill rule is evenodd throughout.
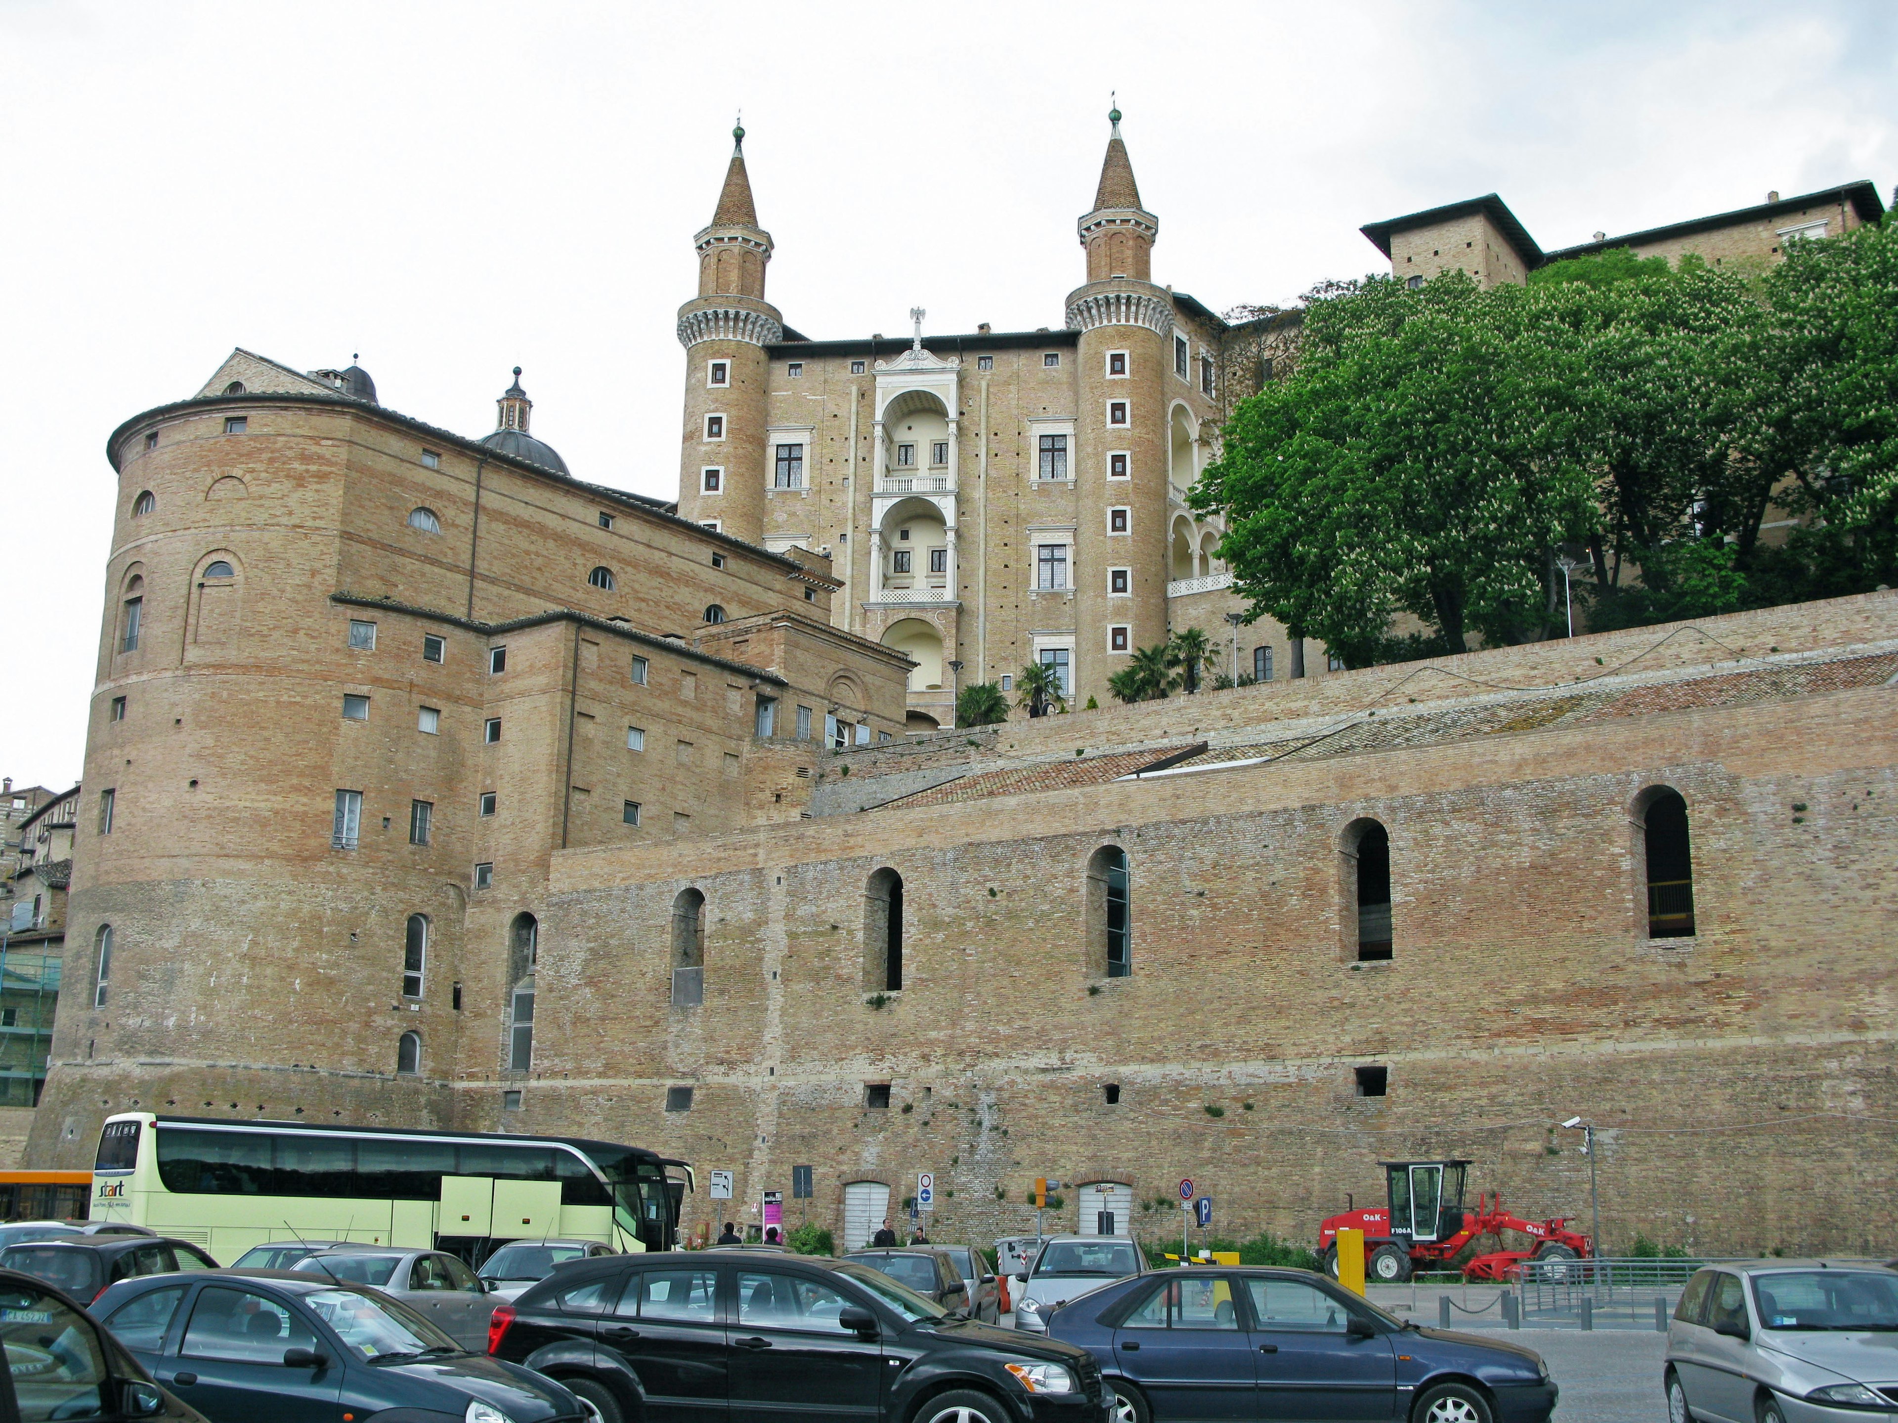
<path id="1" fill-rule="evenodd" d="M 666 1167 L 681 1176 L 668 1180 Z M 93 1220 L 235 1260 L 285 1239 L 452 1250 L 586 1239 L 670 1250 L 691 1167 L 573 1137 L 226 1121 L 121 1112 L 93 1165 Z"/>

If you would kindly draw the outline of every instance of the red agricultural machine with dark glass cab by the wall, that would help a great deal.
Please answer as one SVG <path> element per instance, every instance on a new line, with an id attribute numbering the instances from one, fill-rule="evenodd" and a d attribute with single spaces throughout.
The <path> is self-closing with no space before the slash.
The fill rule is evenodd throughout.
<path id="1" fill-rule="evenodd" d="M 1325 1269 L 1338 1275 L 1338 1231 L 1365 1231 L 1365 1279 L 1403 1284 L 1412 1269 L 1427 1269 L 1458 1254 L 1479 1235 L 1513 1229 L 1528 1235 L 1528 1250 L 1479 1254 L 1463 1266 L 1463 1279 L 1501 1281 L 1520 1273 L 1524 1260 L 1587 1260 L 1594 1241 L 1568 1228 L 1566 1218 L 1522 1220 L 1503 1210 L 1501 1193 L 1477 1193 L 1477 1209 L 1463 1209 L 1469 1161 L 1384 1161 L 1389 1201 L 1367 1210 L 1346 1210 L 1319 1226 L 1317 1248 Z"/>

